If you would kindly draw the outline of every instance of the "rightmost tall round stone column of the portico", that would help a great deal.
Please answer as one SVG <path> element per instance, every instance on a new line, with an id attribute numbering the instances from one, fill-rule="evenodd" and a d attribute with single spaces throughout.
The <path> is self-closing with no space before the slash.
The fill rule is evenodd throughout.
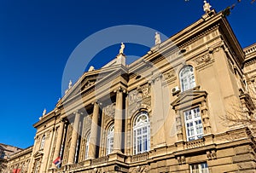
<path id="1" fill-rule="evenodd" d="M 123 91 L 116 92 L 116 106 L 114 113 L 113 153 L 121 153 L 122 149 L 122 121 L 123 121 Z"/>

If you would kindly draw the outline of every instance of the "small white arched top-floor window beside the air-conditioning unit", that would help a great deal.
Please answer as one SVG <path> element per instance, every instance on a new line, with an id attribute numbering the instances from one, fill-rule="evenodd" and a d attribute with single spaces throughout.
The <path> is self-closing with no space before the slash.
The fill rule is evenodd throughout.
<path id="1" fill-rule="evenodd" d="M 179 79 L 181 84 L 181 90 L 185 91 L 195 87 L 195 75 L 193 66 L 185 66 L 179 72 Z"/>

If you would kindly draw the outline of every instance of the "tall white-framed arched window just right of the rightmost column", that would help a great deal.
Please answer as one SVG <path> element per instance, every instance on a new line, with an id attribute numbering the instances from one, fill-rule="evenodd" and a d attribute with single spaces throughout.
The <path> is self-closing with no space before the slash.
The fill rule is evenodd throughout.
<path id="1" fill-rule="evenodd" d="M 148 112 L 139 112 L 133 122 L 133 153 L 150 150 L 150 122 Z"/>

